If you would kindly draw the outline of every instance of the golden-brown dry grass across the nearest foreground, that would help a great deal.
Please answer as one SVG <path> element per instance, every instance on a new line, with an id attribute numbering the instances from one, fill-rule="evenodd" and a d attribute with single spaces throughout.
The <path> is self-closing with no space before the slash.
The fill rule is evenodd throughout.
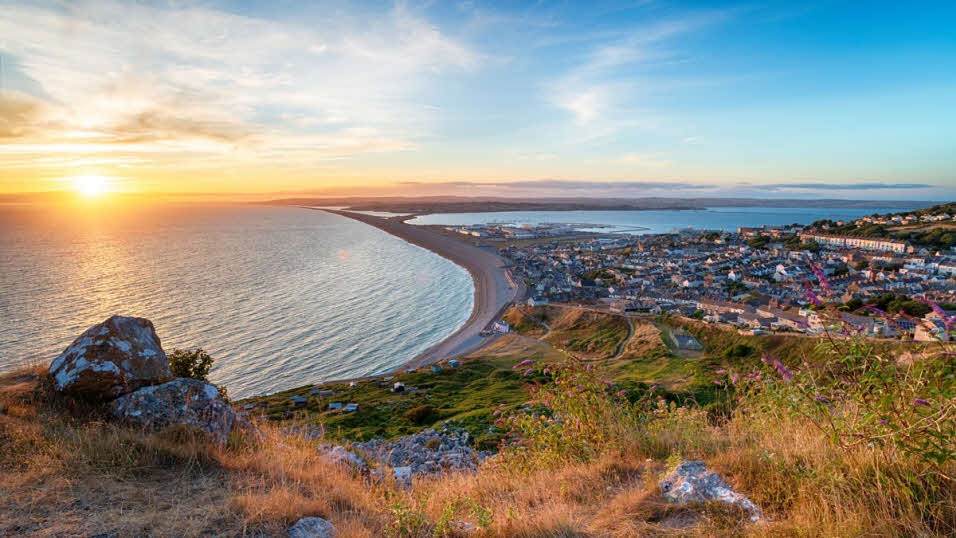
<path id="1" fill-rule="evenodd" d="M 317 515 L 340 536 L 452 522 L 490 536 L 943 536 L 956 532 L 953 484 L 892 449 L 839 452 L 806 424 L 738 417 L 719 428 L 669 411 L 628 453 L 509 474 L 416 481 L 411 491 L 329 465 L 315 442 L 266 426 L 261 444 L 209 446 L 102 420 L 44 390 L 38 372 L 0 378 L 0 535 L 281 535 Z M 760 504 L 763 524 L 720 506 L 665 503 L 662 459 L 700 458 Z M 647 459 L 652 457 L 653 459 Z"/>

